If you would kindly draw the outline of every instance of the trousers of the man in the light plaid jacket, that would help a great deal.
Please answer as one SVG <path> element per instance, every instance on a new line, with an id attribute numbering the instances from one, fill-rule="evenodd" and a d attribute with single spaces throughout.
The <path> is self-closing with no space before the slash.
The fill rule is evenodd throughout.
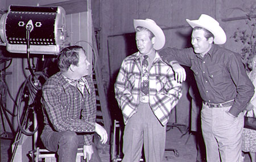
<path id="1" fill-rule="evenodd" d="M 137 162 L 142 155 L 147 162 L 162 161 L 166 144 L 166 126 L 162 126 L 148 103 L 140 103 L 123 133 L 122 162 Z"/>

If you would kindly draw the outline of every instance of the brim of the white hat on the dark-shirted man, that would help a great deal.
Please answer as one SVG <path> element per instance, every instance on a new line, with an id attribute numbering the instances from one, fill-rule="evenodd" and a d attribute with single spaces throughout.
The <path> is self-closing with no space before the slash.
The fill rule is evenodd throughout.
<path id="1" fill-rule="evenodd" d="M 214 35 L 214 40 L 213 40 L 214 44 L 224 44 L 226 42 L 226 33 L 220 27 L 220 25 L 201 23 L 200 20 L 186 19 L 186 21 L 188 22 L 189 25 L 191 25 L 192 28 L 201 27 L 210 31 Z"/>

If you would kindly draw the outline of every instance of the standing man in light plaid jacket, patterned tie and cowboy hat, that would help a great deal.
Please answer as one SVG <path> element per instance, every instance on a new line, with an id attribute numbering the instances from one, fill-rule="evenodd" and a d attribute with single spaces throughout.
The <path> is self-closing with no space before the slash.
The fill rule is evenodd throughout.
<path id="1" fill-rule="evenodd" d="M 154 20 L 134 20 L 138 52 L 126 57 L 115 82 L 115 98 L 122 110 L 123 162 L 139 161 L 142 146 L 146 161 L 162 161 L 166 124 L 181 97 L 181 84 L 156 50 L 165 36 Z"/>

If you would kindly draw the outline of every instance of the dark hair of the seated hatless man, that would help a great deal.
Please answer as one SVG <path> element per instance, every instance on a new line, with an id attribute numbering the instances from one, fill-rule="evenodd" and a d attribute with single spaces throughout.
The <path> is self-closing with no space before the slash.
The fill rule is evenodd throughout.
<path id="1" fill-rule="evenodd" d="M 59 56 L 57 57 L 57 63 L 61 72 L 68 70 L 69 66 L 76 65 L 79 63 L 79 51 L 85 50 L 82 46 L 74 45 L 68 46 L 61 50 Z"/>

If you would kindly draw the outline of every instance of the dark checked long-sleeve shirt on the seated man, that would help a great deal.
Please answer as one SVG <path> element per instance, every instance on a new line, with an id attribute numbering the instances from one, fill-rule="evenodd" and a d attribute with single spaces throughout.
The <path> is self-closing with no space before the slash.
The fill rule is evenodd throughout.
<path id="1" fill-rule="evenodd" d="M 53 131 L 85 133 L 85 145 L 92 144 L 96 123 L 96 94 L 91 76 L 85 76 L 90 94 L 84 88 L 82 95 L 59 72 L 43 86 L 44 123 Z"/>

